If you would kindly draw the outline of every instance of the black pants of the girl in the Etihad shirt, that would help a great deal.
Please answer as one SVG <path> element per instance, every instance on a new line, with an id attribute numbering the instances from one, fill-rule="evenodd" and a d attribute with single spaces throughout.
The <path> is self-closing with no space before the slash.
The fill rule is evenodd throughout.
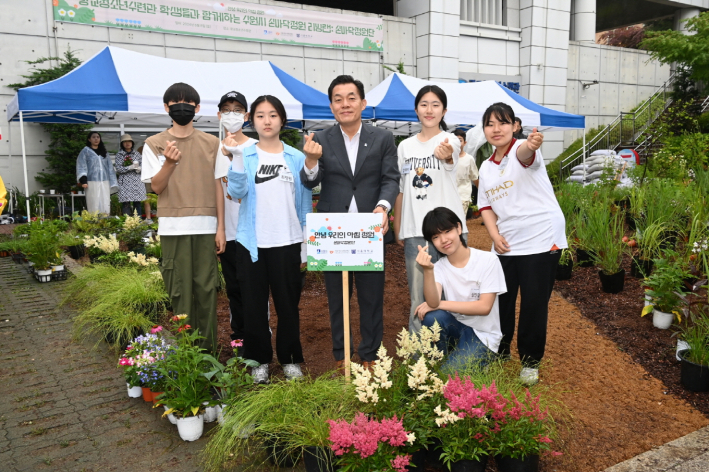
<path id="1" fill-rule="evenodd" d="M 554 288 L 556 266 L 561 251 L 526 256 L 499 256 L 505 273 L 507 293 L 500 295 L 502 342 L 499 353 L 510 355 L 515 334 L 517 291 L 521 293 L 517 350 L 525 367 L 537 367 L 547 342 L 549 298 Z"/>

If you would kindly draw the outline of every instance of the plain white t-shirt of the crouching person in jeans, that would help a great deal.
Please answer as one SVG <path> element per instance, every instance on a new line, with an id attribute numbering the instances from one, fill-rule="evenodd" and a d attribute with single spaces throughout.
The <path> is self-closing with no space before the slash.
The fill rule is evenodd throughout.
<path id="1" fill-rule="evenodd" d="M 470 259 L 465 267 L 453 267 L 447 257 L 433 265 L 436 283 L 441 284 L 446 300 L 454 302 L 474 302 L 483 293 L 502 295 L 507 292 L 505 274 L 496 255 L 469 248 Z M 485 316 L 452 313 L 464 325 L 470 326 L 475 335 L 493 352 L 497 352 L 502 341 L 500 328 L 499 297 L 495 297 L 490 313 Z"/>

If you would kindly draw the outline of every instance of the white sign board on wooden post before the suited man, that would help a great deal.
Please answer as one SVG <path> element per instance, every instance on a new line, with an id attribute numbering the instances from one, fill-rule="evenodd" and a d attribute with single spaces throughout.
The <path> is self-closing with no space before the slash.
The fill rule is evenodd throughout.
<path id="1" fill-rule="evenodd" d="M 309 213 L 308 270 L 384 270 L 380 213 Z"/>

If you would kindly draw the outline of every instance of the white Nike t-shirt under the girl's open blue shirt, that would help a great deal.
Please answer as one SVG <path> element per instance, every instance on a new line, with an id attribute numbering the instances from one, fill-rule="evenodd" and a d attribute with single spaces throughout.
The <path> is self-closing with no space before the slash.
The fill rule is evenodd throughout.
<path id="1" fill-rule="evenodd" d="M 283 158 L 256 146 L 256 240 L 258 247 L 282 247 L 303 242 L 295 210 L 295 182 Z M 298 169 L 300 170 L 300 169 Z"/>

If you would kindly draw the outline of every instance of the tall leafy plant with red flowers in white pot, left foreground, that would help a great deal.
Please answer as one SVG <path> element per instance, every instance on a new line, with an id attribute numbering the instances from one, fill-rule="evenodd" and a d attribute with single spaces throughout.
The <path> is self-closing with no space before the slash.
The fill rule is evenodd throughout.
<path id="1" fill-rule="evenodd" d="M 168 407 L 163 416 L 173 414 L 177 418 L 183 440 L 196 441 L 204 431 L 204 403 L 212 401 L 211 379 L 224 367 L 195 345 L 203 337 L 191 330 L 186 318 L 187 315 L 172 317 L 176 323 L 177 347 L 157 368 L 165 382 L 165 392 L 157 404 Z"/>

